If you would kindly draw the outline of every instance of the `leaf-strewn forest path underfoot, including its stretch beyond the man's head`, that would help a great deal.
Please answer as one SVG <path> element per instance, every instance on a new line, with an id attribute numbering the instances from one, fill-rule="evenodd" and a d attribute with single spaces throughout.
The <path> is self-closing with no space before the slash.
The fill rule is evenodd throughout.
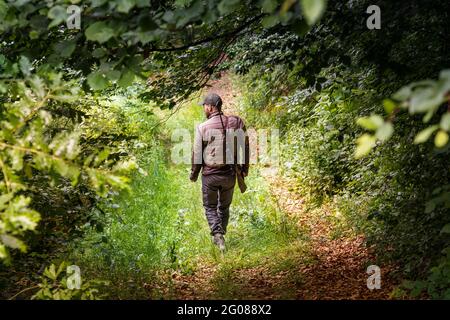
<path id="1" fill-rule="evenodd" d="M 227 75 L 211 81 L 208 91 L 222 97 L 225 114 L 238 114 L 239 93 Z M 367 288 L 366 269 L 375 259 L 362 236 L 335 232 L 332 213 L 327 208 L 305 210 L 302 197 L 292 188 L 293 181 L 277 175 L 272 168 L 251 171 L 251 175 L 262 177 L 268 186 L 267 196 L 282 217 L 296 225 L 299 235 L 275 251 L 266 255 L 261 252 L 251 263 L 245 259 L 236 261 L 236 255 L 227 252 L 212 263 L 201 262 L 191 275 L 172 274 L 174 298 L 389 299 L 394 286 L 384 277 L 383 272 L 388 270 L 382 270 L 381 289 Z M 251 184 L 250 180 L 250 189 Z M 247 202 L 254 196 L 238 195 Z M 240 200 L 237 201 L 235 205 L 239 206 Z"/>

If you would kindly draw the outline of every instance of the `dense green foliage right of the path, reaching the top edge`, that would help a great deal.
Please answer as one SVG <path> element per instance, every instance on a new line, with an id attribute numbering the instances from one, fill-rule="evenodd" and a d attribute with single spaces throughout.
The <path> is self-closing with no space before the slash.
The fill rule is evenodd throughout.
<path id="1" fill-rule="evenodd" d="M 283 170 L 301 192 L 402 277 L 427 279 L 406 285 L 413 294 L 448 298 L 448 2 L 379 5 L 381 30 L 365 26 L 368 2 L 329 3 L 304 36 L 240 41 L 231 65 L 245 74 L 247 117 L 280 127 Z"/>

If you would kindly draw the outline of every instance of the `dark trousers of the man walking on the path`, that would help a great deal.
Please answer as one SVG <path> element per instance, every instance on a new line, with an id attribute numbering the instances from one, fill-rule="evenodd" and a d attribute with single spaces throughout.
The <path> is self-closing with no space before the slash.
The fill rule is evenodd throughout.
<path id="1" fill-rule="evenodd" d="M 227 232 L 236 176 L 202 175 L 203 207 L 211 235 Z"/>

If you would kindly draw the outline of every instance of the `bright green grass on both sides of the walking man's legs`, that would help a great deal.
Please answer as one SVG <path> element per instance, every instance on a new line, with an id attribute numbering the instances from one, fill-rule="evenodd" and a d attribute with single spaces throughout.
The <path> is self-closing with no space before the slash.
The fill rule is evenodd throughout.
<path id="1" fill-rule="evenodd" d="M 89 276 L 113 283 L 112 298 L 170 298 L 174 293 L 166 271 L 192 274 L 199 262 L 219 267 L 211 279 L 215 297 L 245 298 L 238 294 L 245 291 L 230 277 L 234 270 L 267 265 L 277 272 L 295 263 L 289 256 L 293 248 L 303 246 L 302 233 L 277 209 L 257 167 L 251 168 L 248 191 L 235 190 L 227 252 L 222 255 L 212 244 L 201 182 L 189 181 L 188 165 L 167 160 L 173 130 L 192 130 L 202 120 L 195 105 L 185 106 L 168 119 L 161 131 L 165 139 L 150 137 L 149 147 L 139 153 L 148 174 L 136 174 L 131 193 L 104 204 L 104 230 L 92 229 L 74 248 L 72 261 Z"/>

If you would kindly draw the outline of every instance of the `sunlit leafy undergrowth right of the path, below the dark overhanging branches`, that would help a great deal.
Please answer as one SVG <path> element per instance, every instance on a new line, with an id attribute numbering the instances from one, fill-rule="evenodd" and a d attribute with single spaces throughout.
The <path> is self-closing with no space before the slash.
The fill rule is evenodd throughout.
<path id="1" fill-rule="evenodd" d="M 289 69 L 254 68 L 236 77 L 240 111 L 251 125 L 280 129 L 283 174 L 296 181 L 309 208 L 332 211 L 336 233 L 364 234 L 380 266 L 394 264 L 400 281 L 413 280 L 404 282 L 406 292 L 448 298 L 449 148 L 413 144 L 421 119 L 398 114 L 390 141 L 355 159 L 361 134 L 355 119 L 383 113 L 380 93 L 389 87 L 373 90 L 365 70 L 341 71 L 345 84 L 298 88 Z M 322 74 L 333 79 L 329 71 Z"/>

